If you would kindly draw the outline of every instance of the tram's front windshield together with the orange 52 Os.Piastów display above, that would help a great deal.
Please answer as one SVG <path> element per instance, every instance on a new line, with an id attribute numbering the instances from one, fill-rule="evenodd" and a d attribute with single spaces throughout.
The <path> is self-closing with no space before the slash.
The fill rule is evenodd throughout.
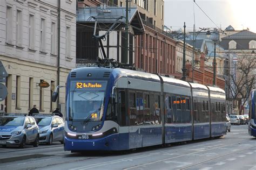
<path id="1" fill-rule="evenodd" d="M 100 82 L 99 88 L 87 87 L 90 82 L 71 84 L 69 101 L 69 119 L 72 121 L 100 121 L 103 116 L 105 82 Z M 94 83 L 93 84 L 97 84 Z M 90 85 L 89 85 L 90 86 Z M 97 85 L 96 85 L 97 86 Z M 103 87 L 104 86 L 104 87 Z M 73 87 L 73 88 L 72 88 Z"/>

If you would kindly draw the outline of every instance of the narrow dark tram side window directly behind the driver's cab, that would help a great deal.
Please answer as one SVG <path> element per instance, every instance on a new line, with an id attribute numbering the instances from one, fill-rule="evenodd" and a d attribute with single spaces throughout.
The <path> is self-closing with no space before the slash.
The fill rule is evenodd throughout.
<path id="1" fill-rule="evenodd" d="M 125 91 L 119 91 L 118 94 L 118 122 L 120 126 L 126 125 L 126 107 Z"/>

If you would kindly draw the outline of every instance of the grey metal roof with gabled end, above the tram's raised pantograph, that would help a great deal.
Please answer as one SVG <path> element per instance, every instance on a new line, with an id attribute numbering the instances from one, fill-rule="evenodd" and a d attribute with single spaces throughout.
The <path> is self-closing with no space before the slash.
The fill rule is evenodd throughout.
<path id="1" fill-rule="evenodd" d="M 77 9 L 77 23 L 95 23 L 95 18 L 99 23 L 114 23 L 117 18 L 118 23 L 125 26 L 126 8 L 107 6 L 101 7 L 86 7 Z M 144 32 L 144 26 L 142 19 L 140 18 L 137 8 L 131 7 L 128 13 L 129 24 L 133 26 L 134 34 L 142 34 Z"/>

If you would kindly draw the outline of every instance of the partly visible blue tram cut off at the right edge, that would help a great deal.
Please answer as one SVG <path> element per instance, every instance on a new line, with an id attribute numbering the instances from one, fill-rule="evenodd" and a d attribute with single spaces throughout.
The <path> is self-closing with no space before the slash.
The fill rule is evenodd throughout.
<path id="1" fill-rule="evenodd" d="M 256 89 L 251 91 L 249 98 L 249 121 L 248 121 L 248 132 L 251 136 L 256 137 Z"/>

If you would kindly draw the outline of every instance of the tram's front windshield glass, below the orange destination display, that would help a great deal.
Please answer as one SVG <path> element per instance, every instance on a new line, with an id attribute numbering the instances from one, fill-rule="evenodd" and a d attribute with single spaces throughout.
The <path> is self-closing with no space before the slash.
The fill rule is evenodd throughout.
<path id="1" fill-rule="evenodd" d="M 69 118 L 83 121 L 99 121 L 103 116 L 104 91 L 73 91 L 70 93 Z"/>

